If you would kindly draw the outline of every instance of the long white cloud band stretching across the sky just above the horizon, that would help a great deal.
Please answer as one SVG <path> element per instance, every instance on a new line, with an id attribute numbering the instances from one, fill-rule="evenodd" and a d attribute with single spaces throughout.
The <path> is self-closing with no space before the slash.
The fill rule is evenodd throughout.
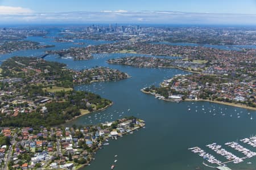
<path id="1" fill-rule="evenodd" d="M 1 1 L 1 0 L 0 0 Z M 100 11 L 1 14 L 6 23 L 159 23 L 159 24 L 246 24 L 255 25 L 256 15 L 206 14 L 173 11 Z M 20 12 L 20 11 L 19 11 Z"/>

